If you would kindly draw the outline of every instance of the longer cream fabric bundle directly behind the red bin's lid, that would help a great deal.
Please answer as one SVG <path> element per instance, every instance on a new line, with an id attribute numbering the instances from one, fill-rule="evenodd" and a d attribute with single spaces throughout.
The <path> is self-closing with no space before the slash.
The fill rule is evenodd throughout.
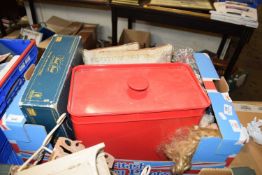
<path id="1" fill-rule="evenodd" d="M 120 46 L 121 47 L 121 46 Z M 140 50 L 84 51 L 85 64 L 136 64 L 170 62 L 173 53 L 171 44 Z"/>

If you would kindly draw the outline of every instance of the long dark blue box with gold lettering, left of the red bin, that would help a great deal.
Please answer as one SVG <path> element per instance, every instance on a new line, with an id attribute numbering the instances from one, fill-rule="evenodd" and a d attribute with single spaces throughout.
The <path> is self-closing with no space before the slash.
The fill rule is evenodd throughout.
<path id="1" fill-rule="evenodd" d="M 71 69 L 80 63 L 81 37 L 55 35 L 19 104 L 28 123 L 43 125 L 47 132 L 51 131 L 58 117 L 67 111 Z M 59 128 L 58 136 L 74 138 L 70 119 Z"/>

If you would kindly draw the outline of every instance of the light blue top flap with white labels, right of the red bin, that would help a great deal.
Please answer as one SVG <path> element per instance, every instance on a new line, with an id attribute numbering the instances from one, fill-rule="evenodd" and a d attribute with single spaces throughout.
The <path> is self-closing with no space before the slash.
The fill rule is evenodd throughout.
<path id="1" fill-rule="evenodd" d="M 215 85 L 216 89 L 212 91 L 207 90 L 207 92 L 223 139 L 237 142 L 240 138 L 241 124 L 231 99 L 225 95 L 228 92 L 226 80 L 223 77 L 219 79 L 208 55 L 195 53 L 194 57 L 202 79 L 211 84 L 213 82 Z M 204 84 L 206 85 L 205 82 Z"/>

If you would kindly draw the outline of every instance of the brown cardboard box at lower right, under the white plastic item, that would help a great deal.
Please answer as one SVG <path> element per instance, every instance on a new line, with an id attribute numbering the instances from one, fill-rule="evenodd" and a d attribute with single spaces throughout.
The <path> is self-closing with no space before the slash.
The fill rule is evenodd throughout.
<path id="1" fill-rule="evenodd" d="M 262 102 L 234 102 L 240 122 L 247 126 L 254 117 L 262 119 Z M 251 138 L 233 160 L 231 167 L 250 167 L 257 175 L 262 174 L 262 145 L 256 144 Z"/>

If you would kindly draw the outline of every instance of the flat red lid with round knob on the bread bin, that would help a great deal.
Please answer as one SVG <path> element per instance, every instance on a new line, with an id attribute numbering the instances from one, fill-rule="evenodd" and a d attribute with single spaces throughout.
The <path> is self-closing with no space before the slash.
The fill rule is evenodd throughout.
<path id="1" fill-rule="evenodd" d="M 74 116 L 206 108 L 209 99 L 183 63 L 78 66 L 68 111 Z"/>

